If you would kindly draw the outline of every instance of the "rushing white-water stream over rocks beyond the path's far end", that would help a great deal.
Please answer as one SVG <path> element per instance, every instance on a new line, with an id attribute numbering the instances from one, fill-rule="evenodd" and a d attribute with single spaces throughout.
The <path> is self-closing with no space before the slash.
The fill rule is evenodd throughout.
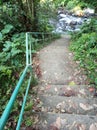
<path id="1" fill-rule="evenodd" d="M 83 14 L 81 12 L 71 13 L 68 10 L 59 9 L 57 12 L 57 18 L 50 19 L 49 22 L 53 25 L 55 33 L 64 33 L 64 32 L 74 32 L 80 31 L 80 27 L 83 23 L 89 22 L 91 17 L 95 15 L 95 11 L 93 9 L 87 8 L 83 10 Z"/>

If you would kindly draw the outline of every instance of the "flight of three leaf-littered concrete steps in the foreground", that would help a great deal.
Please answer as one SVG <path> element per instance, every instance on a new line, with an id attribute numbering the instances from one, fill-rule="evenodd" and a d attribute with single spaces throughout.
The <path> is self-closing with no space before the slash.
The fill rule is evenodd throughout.
<path id="1" fill-rule="evenodd" d="M 97 98 L 89 86 L 39 85 L 36 130 L 97 130 Z"/>

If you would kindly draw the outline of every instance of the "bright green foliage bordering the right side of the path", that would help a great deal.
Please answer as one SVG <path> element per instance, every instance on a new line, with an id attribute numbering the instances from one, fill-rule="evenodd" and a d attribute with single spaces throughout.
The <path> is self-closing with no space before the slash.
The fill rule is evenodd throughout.
<path id="1" fill-rule="evenodd" d="M 72 35 L 71 50 L 74 52 L 75 60 L 80 61 L 90 83 L 97 85 L 97 21 L 91 20 L 85 23 L 80 32 Z"/>

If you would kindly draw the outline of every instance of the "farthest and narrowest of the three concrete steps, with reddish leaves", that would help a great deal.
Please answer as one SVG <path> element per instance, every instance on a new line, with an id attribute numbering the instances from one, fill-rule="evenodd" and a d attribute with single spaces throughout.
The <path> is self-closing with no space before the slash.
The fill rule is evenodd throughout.
<path id="1" fill-rule="evenodd" d="M 89 85 L 40 85 L 38 94 L 58 95 L 58 96 L 78 96 L 93 97 L 95 88 Z"/>

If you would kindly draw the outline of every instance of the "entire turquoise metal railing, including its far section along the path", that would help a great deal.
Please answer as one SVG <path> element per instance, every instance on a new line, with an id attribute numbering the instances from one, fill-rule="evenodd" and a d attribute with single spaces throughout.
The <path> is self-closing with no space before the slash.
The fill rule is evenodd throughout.
<path id="1" fill-rule="evenodd" d="M 15 87 L 15 90 L 13 91 L 12 96 L 11 96 L 11 98 L 10 98 L 1 118 L 0 118 L 0 130 L 3 130 L 5 125 L 6 125 L 6 122 L 8 120 L 8 117 L 10 115 L 10 112 L 12 110 L 14 102 L 16 100 L 16 97 L 19 93 L 19 90 L 22 86 L 24 78 L 27 75 L 28 70 L 30 69 L 30 76 L 29 76 L 29 79 L 28 79 L 28 85 L 27 85 L 27 88 L 26 88 L 26 92 L 25 92 L 25 96 L 24 96 L 24 99 L 23 99 L 19 119 L 18 119 L 17 126 L 16 126 L 16 130 L 20 130 L 20 125 L 21 125 L 21 122 L 22 122 L 22 116 L 23 116 L 23 112 L 24 112 L 24 108 L 25 108 L 25 104 L 26 104 L 26 99 L 27 99 L 29 88 L 30 88 L 31 77 L 32 77 L 32 48 L 34 47 L 35 42 L 36 43 L 44 42 L 45 40 L 52 39 L 52 37 L 54 37 L 54 36 L 55 35 L 53 35 L 51 33 L 40 33 L 40 32 L 28 32 L 28 33 L 26 33 L 26 67 L 25 67 L 22 75 L 20 76 L 20 79 L 19 79 L 19 81 L 18 81 L 18 83 Z"/>

